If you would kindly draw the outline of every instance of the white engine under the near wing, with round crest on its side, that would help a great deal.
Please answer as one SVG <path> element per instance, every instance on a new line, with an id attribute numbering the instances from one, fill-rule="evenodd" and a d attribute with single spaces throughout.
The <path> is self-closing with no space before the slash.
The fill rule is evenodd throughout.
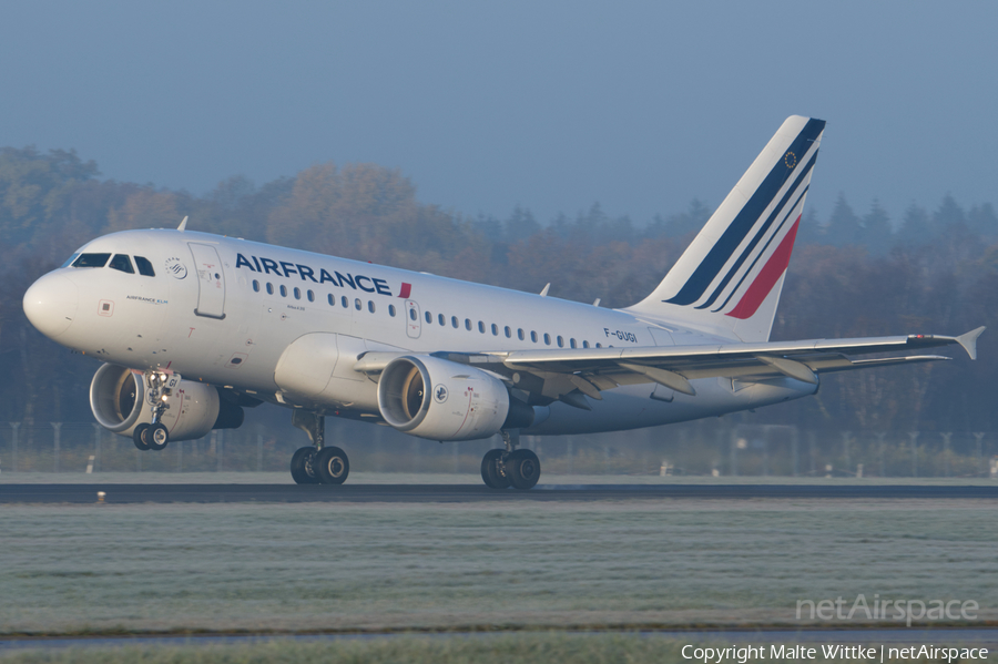
<path id="1" fill-rule="evenodd" d="M 488 438 L 533 421 L 533 410 L 511 400 L 495 376 L 425 355 L 399 357 L 385 367 L 378 408 L 399 431 L 432 440 Z"/>

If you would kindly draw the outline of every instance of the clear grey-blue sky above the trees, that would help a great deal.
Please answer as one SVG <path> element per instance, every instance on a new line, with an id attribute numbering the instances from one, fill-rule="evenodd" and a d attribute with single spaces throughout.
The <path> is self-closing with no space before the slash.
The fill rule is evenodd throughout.
<path id="1" fill-rule="evenodd" d="M 787 115 L 828 122 L 808 206 L 998 203 L 998 3 L 12 0 L 0 145 L 210 192 L 316 163 L 424 203 L 637 224 L 715 207 Z"/>

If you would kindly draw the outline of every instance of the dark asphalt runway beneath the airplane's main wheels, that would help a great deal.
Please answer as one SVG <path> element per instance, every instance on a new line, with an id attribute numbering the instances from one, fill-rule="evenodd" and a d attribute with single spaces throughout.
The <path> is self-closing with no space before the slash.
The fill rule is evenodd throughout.
<path id="1" fill-rule="evenodd" d="M 538 484 L 496 491 L 479 484 L 0 484 L 0 503 L 173 502 L 592 502 L 649 499 L 998 499 L 998 486 L 919 484 Z"/>

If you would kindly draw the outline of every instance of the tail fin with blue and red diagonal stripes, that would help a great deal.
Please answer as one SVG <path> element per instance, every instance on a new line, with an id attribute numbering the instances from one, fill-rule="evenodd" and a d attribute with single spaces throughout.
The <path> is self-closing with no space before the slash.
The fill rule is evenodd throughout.
<path id="1" fill-rule="evenodd" d="M 628 310 L 768 340 L 824 129 L 787 118 L 659 287 Z"/>

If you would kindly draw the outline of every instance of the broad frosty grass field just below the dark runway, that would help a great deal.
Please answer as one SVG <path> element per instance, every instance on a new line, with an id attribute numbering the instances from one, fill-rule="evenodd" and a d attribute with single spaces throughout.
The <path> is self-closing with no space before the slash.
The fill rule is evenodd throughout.
<path id="1" fill-rule="evenodd" d="M 994 508 L 12 505 L 0 632 L 804 626 L 798 600 L 859 593 L 975 600 L 995 620 Z"/>

